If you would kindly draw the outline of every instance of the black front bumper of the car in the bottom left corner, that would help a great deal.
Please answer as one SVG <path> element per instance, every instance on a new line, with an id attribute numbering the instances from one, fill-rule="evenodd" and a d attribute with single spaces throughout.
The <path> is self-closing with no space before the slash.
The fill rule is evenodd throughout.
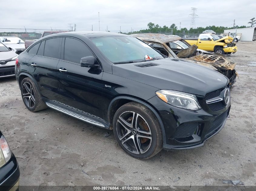
<path id="1" fill-rule="evenodd" d="M 18 162 L 12 154 L 10 160 L 0 168 L 0 190 L 15 191 L 19 186 L 20 170 Z"/>

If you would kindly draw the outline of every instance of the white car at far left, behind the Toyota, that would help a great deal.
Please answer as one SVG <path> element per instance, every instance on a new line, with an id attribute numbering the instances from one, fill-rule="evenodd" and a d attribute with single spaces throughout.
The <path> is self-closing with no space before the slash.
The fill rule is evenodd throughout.
<path id="1" fill-rule="evenodd" d="M 12 49 L 16 49 L 16 53 L 20 54 L 25 50 L 25 42 L 19 37 L 0 37 L 3 44 Z"/>

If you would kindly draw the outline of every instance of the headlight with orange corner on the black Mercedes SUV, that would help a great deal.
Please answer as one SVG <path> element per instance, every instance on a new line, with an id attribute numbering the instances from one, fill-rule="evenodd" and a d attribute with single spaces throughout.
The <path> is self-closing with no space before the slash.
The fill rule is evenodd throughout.
<path id="1" fill-rule="evenodd" d="M 201 107 L 194 94 L 187 94 L 180 91 L 158 90 L 155 94 L 163 100 L 175 107 L 180 107 L 188 110 L 200 110 Z"/>

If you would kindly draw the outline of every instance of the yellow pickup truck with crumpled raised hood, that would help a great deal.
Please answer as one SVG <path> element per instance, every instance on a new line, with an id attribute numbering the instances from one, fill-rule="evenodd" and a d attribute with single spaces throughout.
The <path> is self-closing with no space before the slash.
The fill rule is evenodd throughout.
<path id="1" fill-rule="evenodd" d="M 190 45 L 195 44 L 199 49 L 213 51 L 219 54 L 232 54 L 237 51 L 237 46 L 232 37 L 219 38 L 216 34 L 200 34 L 197 38 L 185 38 Z"/>

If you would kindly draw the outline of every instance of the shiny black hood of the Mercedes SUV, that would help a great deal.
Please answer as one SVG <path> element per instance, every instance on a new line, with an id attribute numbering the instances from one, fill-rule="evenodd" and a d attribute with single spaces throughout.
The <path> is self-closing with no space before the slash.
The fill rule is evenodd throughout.
<path id="1" fill-rule="evenodd" d="M 112 65 L 112 70 L 114 75 L 155 88 L 201 96 L 228 84 L 228 78 L 219 72 L 180 59 L 165 58 L 139 63 L 115 64 Z"/>

